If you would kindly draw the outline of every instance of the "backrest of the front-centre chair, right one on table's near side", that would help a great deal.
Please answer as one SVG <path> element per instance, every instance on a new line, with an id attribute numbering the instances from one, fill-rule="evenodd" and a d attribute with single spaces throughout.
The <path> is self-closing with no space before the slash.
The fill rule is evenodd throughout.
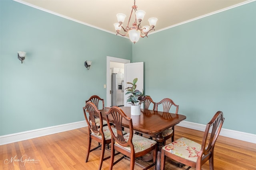
<path id="1" fill-rule="evenodd" d="M 112 129 L 109 128 L 112 139 L 114 139 L 114 141 L 116 141 L 122 147 L 130 146 L 131 151 L 132 150 L 134 151 L 134 146 L 132 144 L 132 137 L 133 137 L 132 119 L 130 117 L 127 117 L 124 111 L 122 111 L 122 109 L 117 106 L 113 106 L 110 108 L 108 113 L 106 113 L 106 119 L 107 119 L 108 127 L 110 127 L 111 125 L 110 123 L 114 123 L 114 125 L 116 126 L 117 136 L 115 136 Z M 122 133 L 122 121 L 126 121 L 129 124 L 130 136 L 127 142 L 124 140 L 124 135 Z"/>

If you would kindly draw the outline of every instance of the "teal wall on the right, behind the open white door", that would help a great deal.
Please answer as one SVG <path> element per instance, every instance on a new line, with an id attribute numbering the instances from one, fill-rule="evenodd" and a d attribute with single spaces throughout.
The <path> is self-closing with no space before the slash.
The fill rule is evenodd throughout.
<path id="1" fill-rule="evenodd" d="M 256 134 L 256 2 L 140 39 L 132 62 L 144 61 L 144 90 L 172 98 L 186 121 Z"/>

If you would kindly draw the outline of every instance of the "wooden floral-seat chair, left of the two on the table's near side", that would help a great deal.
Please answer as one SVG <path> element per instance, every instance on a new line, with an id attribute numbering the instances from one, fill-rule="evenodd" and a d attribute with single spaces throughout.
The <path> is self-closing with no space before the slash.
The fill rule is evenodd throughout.
<path id="1" fill-rule="evenodd" d="M 99 111 L 92 102 L 87 102 L 86 105 L 83 107 L 83 111 L 84 111 L 84 117 L 86 119 L 86 123 L 88 125 L 88 150 L 87 150 L 85 162 L 88 162 L 90 152 L 101 147 L 100 164 L 98 168 L 100 170 L 102 167 L 102 162 L 110 158 L 110 156 L 108 156 L 107 158 L 104 158 L 104 152 L 105 152 L 106 144 L 108 145 L 111 143 L 111 133 L 108 126 L 103 126 L 101 111 Z M 88 116 L 86 112 L 88 112 L 89 114 Z M 100 120 L 99 127 L 96 125 L 95 114 L 99 115 L 99 118 L 98 118 Z M 111 127 L 111 129 L 114 135 L 117 135 L 116 129 L 113 127 Z M 121 133 L 126 134 L 126 132 L 124 131 L 122 131 Z M 94 149 L 90 149 L 92 139 L 97 141 L 101 145 L 98 145 Z"/>

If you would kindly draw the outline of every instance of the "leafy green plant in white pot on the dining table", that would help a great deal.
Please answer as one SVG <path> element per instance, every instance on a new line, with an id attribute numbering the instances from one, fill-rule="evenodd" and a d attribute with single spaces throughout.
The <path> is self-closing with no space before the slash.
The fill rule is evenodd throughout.
<path id="1" fill-rule="evenodd" d="M 131 87 L 127 87 L 126 94 L 130 94 L 127 98 L 127 103 L 132 104 L 131 105 L 131 115 L 140 115 L 140 104 L 144 101 L 144 91 L 140 92 L 140 90 L 136 90 L 136 82 L 138 81 L 138 78 L 134 78 L 134 80 L 131 82 L 127 82 L 127 84 L 131 84 Z M 126 95 L 125 94 L 125 95 Z"/>

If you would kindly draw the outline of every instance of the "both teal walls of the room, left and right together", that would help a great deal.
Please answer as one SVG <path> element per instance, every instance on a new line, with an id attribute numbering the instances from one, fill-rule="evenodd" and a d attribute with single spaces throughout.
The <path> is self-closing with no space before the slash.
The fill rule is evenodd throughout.
<path id="1" fill-rule="evenodd" d="M 256 134 L 256 2 L 130 40 L 0 0 L 0 135 L 84 120 L 106 99 L 106 56 L 144 62 L 144 90 L 172 98 L 186 121 Z M 17 51 L 26 51 L 24 63 Z M 132 56 L 132 58 L 131 58 Z M 92 61 L 90 70 L 84 61 Z"/>

